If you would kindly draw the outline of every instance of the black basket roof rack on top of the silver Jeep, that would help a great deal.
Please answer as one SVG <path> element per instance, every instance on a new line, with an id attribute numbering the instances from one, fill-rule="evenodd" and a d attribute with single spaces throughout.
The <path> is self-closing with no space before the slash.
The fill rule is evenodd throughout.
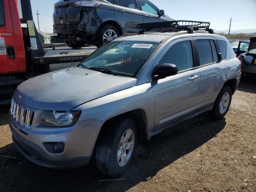
<path id="1" fill-rule="evenodd" d="M 194 33 L 194 31 L 204 30 L 213 34 L 213 29 L 210 29 L 210 22 L 201 21 L 189 21 L 189 20 L 177 20 L 177 21 L 165 21 L 165 22 L 153 22 L 153 23 L 139 23 L 137 29 L 140 29 L 139 34 L 144 32 L 179 32 L 188 31 L 188 33 Z"/>

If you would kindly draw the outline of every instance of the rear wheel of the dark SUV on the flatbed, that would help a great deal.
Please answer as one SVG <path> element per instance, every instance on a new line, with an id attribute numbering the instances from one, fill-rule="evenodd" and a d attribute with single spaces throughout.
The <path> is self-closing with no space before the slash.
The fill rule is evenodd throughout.
<path id="1" fill-rule="evenodd" d="M 108 30 L 112 30 L 111 36 L 110 35 L 108 36 Z M 103 37 L 104 37 L 105 33 L 107 34 L 109 39 L 104 42 Z M 110 25 L 110 24 L 103 25 L 102 28 L 100 28 L 100 30 L 98 31 L 98 38 L 97 38 L 96 46 L 100 47 L 103 44 L 105 44 L 106 42 L 108 42 L 112 39 L 118 38 L 119 36 L 120 36 L 120 34 L 115 26 Z"/>

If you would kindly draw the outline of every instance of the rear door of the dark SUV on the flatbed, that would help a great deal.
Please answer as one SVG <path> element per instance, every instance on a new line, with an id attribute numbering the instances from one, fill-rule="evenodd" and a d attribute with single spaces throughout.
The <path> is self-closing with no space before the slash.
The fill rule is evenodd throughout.
<path id="1" fill-rule="evenodd" d="M 143 16 L 136 0 L 115 0 L 114 4 L 116 22 L 122 26 L 124 34 L 139 32 L 137 24 L 143 23 Z"/>

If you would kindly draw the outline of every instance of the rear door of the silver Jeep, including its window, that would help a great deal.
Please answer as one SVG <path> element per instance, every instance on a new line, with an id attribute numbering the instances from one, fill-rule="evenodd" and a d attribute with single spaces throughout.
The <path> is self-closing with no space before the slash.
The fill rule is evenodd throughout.
<path id="1" fill-rule="evenodd" d="M 214 37 L 195 37 L 194 43 L 198 60 L 197 68 L 200 70 L 199 100 L 201 106 L 197 112 L 201 112 L 213 106 L 222 88 L 226 67 L 218 58 L 220 51 Z M 223 54 L 223 60 L 225 57 L 226 53 Z"/>

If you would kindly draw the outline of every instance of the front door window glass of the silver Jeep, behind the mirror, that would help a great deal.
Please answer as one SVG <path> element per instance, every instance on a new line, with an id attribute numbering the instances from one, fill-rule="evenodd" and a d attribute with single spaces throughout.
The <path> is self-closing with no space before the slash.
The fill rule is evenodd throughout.
<path id="1" fill-rule="evenodd" d="M 191 41 L 182 41 L 171 46 L 159 62 L 159 64 L 164 63 L 176 65 L 178 71 L 193 68 Z"/>

